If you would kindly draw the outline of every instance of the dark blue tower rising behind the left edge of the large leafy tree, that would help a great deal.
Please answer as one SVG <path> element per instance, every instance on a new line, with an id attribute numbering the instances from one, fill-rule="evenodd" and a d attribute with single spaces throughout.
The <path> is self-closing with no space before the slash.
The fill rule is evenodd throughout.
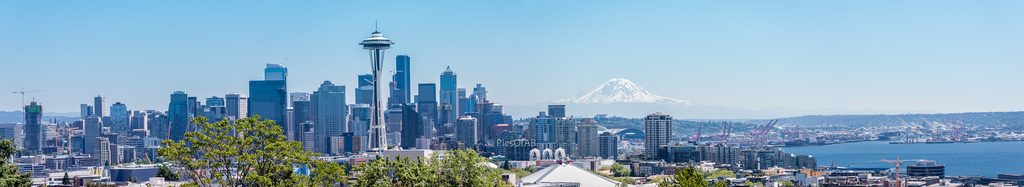
<path id="1" fill-rule="evenodd" d="M 188 113 L 188 94 L 182 91 L 176 91 L 171 94 L 171 103 L 168 104 L 167 108 L 169 129 L 162 129 L 163 131 L 160 132 L 167 133 L 164 137 L 174 141 L 184 140 L 189 124 L 188 120 L 191 115 L 191 113 Z"/>

